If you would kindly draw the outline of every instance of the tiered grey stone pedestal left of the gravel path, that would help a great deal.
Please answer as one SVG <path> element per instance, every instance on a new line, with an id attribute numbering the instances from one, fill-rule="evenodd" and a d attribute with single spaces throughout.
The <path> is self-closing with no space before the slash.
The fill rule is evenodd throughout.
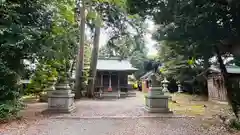
<path id="1" fill-rule="evenodd" d="M 74 94 L 67 83 L 56 85 L 48 94 L 48 111 L 70 113 L 75 110 Z"/>

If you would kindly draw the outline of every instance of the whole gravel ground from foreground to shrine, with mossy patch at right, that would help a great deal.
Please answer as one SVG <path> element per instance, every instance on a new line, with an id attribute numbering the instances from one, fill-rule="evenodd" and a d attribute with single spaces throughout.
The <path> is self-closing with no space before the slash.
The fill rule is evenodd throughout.
<path id="1" fill-rule="evenodd" d="M 196 103 L 177 99 L 170 107 L 175 112 L 194 108 Z M 184 97 L 185 98 L 185 97 Z M 114 100 L 80 100 L 72 114 L 43 115 L 46 103 L 29 104 L 19 122 L 1 125 L 2 135 L 227 135 L 220 125 L 203 126 L 202 118 L 173 118 L 175 115 L 148 114 L 143 109 L 143 94 Z M 182 102 L 182 103 L 180 103 Z M 195 104 L 194 104 L 195 103 Z M 201 104 L 200 104 L 201 103 Z M 181 107 L 177 107 L 179 104 Z M 185 104 L 185 105 L 184 105 Z M 203 106 L 203 105 L 202 105 Z M 204 107 L 204 106 L 203 106 Z M 208 107 L 208 105 L 207 105 Z M 204 107 L 206 108 L 206 107 Z M 183 109 L 184 110 L 184 109 Z M 191 109 L 194 110 L 194 109 Z M 199 108 L 195 108 L 199 110 Z M 202 116 L 207 109 L 204 109 Z M 201 111 L 202 112 L 202 111 Z M 191 113 L 191 115 L 194 113 Z M 189 115 L 187 113 L 187 115 Z M 155 118 L 146 118 L 155 117 Z M 157 118 L 156 118 L 157 117 Z"/>

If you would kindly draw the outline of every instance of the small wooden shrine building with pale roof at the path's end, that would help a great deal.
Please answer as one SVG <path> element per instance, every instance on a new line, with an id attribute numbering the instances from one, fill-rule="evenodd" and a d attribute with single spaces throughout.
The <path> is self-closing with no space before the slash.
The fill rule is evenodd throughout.
<path id="1" fill-rule="evenodd" d="M 98 60 L 95 77 L 95 92 L 117 93 L 128 92 L 128 75 L 137 69 L 128 60 L 119 58 L 103 58 Z"/>

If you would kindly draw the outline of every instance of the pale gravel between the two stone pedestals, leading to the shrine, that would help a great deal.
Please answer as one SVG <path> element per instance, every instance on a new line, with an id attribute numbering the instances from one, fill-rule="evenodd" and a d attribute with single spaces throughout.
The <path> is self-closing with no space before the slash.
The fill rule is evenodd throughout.
<path id="1" fill-rule="evenodd" d="M 167 114 L 149 114 L 144 110 L 144 97 L 136 92 L 136 97 L 123 99 L 82 100 L 76 102 L 76 111 L 63 114 L 62 117 L 96 117 L 96 116 L 169 116 Z M 172 115 L 171 115 L 172 116 Z"/>

